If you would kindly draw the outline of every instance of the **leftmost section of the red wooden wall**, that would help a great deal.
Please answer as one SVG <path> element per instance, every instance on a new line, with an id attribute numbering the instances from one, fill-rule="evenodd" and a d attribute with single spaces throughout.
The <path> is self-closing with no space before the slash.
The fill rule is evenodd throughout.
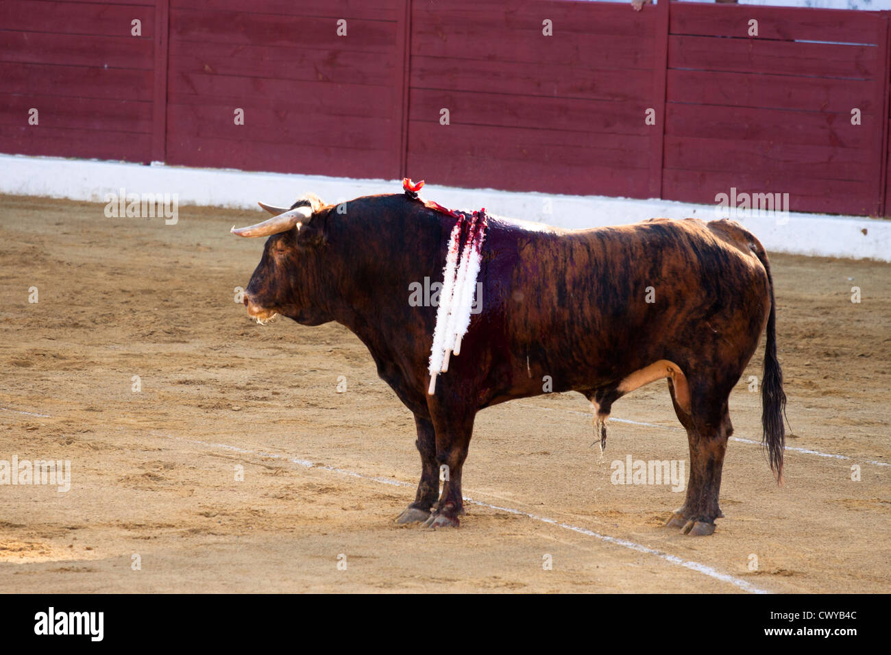
<path id="1" fill-rule="evenodd" d="M 0 3 L 0 151 L 149 161 L 154 4 Z"/>

